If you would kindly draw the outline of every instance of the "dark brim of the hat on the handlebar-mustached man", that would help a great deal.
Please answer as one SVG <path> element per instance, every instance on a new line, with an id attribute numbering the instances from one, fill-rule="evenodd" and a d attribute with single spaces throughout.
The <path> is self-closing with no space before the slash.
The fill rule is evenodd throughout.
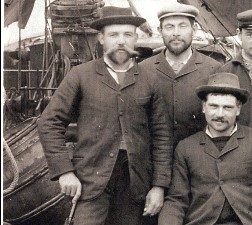
<path id="1" fill-rule="evenodd" d="M 90 27 L 96 30 L 101 30 L 104 26 L 112 24 L 131 24 L 139 27 L 144 22 L 146 20 L 138 16 L 111 16 L 95 20 Z"/>

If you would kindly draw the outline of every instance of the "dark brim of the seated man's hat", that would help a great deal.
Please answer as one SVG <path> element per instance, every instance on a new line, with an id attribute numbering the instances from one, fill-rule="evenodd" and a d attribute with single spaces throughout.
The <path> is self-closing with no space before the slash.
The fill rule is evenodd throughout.
<path id="1" fill-rule="evenodd" d="M 203 85 L 196 88 L 195 92 L 201 100 L 204 100 L 206 95 L 209 93 L 231 94 L 234 95 L 238 100 L 240 100 L 242 104 L 246 103 L 249 98 L 249 92 L 247 90 L 231 87 L 216 87 Z"/>

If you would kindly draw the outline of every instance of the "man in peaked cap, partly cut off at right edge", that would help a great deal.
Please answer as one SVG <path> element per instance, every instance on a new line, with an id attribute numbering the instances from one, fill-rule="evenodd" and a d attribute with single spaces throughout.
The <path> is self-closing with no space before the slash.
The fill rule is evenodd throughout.
<path id="1" fill-rule="evenodd" d="M 226 63 L 219 71 L 234 73 L 239 77 L 241 87 L 252 92 L 252 9 L 237 14 L 237 34 L 241 40 L 241 52 Z M 242 107 L 239 116 L 241 124 L 252 127 L 252 99 Z"/>

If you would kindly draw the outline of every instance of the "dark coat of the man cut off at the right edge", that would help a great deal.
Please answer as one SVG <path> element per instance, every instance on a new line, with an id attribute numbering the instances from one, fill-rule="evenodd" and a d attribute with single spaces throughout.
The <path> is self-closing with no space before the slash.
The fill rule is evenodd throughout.
<path id="1" fill-rule="evenodd" d="M 244 66 L 242 55 L 239 54 L 236 58 L 226 63 L 219 69 L 219 72 L 236 74 L 239 77 L 241 88 L 251 93 L 248 101 L 242 106 L 238 121 L 240 124 L 252 127 L 252 80 L 249 77 L 249 71 Z"/>

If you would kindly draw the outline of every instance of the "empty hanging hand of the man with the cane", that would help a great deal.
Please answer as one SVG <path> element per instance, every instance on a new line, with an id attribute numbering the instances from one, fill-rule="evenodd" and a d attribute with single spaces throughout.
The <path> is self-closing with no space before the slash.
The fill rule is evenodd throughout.
<path id="1" fill-rule="evenodd" d="M 163 207 L 164 189 L 162 187 L 153 187 L 146 196 L 143 216 L 154 216 Z"/>

